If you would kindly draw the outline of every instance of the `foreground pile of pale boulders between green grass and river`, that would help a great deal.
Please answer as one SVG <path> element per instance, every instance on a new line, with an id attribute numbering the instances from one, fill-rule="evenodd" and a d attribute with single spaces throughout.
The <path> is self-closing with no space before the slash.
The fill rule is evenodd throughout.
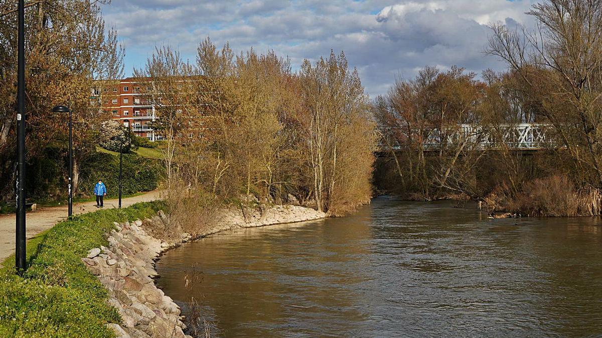
<path id="1" fill-rule="evenodd" d="M 118 337 L 186 337 L 180 309 L 155 286 L 154 260 L 161 241 L 141 228 L 142 222 L 115 224 L 109 247 L 94 248 L 82 258 L 110 293 L 109 303 L 123 319 L 108 324 Z"/>

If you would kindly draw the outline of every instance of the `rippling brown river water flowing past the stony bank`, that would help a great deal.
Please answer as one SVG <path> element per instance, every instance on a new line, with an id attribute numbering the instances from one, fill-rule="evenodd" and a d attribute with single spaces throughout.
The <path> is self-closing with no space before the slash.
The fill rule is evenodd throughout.
<path id="1" fill-rule="evenodd" d="M 223 337 L 602 336 L 602 221 L 375 198 L 168 251 L 157 284 Z M 194 289 L 184 275 L 202 272 Z"/>

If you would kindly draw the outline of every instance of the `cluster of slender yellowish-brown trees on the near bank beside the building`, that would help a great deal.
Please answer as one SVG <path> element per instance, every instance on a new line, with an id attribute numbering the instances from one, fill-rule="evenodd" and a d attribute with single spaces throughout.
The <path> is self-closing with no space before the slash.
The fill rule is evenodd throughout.
<path id="1" fill-rule="evenodd" d="M 157 48 L 135 76 L 151 84 L 171 198 L 293 195 L 334 215 L 370 200 L 374 122 L 342 52 L 293 72 L 273 51 L 234 55 L 206 38 L 196 63 Z"/>

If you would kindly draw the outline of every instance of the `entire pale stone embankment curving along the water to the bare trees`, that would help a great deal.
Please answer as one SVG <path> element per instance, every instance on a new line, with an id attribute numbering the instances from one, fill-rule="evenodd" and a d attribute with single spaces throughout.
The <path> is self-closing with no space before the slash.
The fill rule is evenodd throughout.
<path id="1" fill-rule="evenodd" d="M 123 323 L 107 324 L 117 337 L 190 337 L 178 305 L 155 286 L 155 260 L 163 251 L 192 239 L 202 238 L 224 230 L 259 227 L 271 224 L 317 220 L 323 212 L 300 206 L 273 206 L 223 209 L 215 226 L 194 238 L 182 233 L 176 241 L 164 242 L 154 238 L 144 228 L 169 227 L 169 216 L 163 212 L 151 220 L 115 223 L 108 234 L 109 247 L 93 248 L 82 258 L 88 269 L 98 276 L 110 293 L 109 303 L 119 311 Z"/>

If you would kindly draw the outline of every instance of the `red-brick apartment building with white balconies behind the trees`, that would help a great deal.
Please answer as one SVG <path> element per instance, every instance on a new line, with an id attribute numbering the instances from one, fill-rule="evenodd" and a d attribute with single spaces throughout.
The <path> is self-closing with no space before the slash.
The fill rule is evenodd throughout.
<path id="1" fill-rule="evenodd" d="M 119 121 L 126 128 L 151 141 L 162 140 L 151 128 L 155 120 L 155 107 L 144 99 L 143 92 L 149 82 L 140 78 L 125 78 L 117 81 L 103 81 L 102 85 L 92 88 L 92 97 L 101 96 L 102 108 L 113 112 L 113 120 Z"/>

